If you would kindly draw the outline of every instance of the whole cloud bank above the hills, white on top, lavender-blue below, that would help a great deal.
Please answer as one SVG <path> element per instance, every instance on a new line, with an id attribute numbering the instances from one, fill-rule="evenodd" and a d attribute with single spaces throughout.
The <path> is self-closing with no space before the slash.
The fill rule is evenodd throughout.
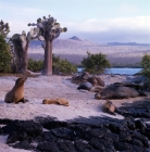
<path id="1" fill-rule="evenodd" d="M 82 23 L 65 22 L 68 31 L 61 38 L 78 36 L 98 43 L 121 42 L 149 42 L 150 16 L 118 17 L 113 20 L 90 20 Z"/>

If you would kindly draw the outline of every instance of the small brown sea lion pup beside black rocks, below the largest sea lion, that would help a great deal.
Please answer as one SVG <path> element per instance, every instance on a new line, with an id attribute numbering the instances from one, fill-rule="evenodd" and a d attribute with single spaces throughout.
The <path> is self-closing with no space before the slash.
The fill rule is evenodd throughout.
<path id="1" fill-rule="evenodd" d="M 114 113 L 115 110 L 116 110 L 115 105 L 110 100 L 107 100 L 107 102 L 102 106 L 103 112 L 112 114 L 112 115 L 115 115 Z"/>

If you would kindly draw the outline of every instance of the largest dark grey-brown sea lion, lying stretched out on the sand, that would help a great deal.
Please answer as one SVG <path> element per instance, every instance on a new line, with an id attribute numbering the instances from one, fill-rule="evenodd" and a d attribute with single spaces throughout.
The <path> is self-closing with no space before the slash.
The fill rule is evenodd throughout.
<path id="1" fill-rule="evenodd" d="M 127 99 L 139 96 L 146 96 L 143 92 L 136 90 L 135 88 L 125 87 L 123 85 L 110 85 L 102 91 L 95 94 L 96 99 Z"/>

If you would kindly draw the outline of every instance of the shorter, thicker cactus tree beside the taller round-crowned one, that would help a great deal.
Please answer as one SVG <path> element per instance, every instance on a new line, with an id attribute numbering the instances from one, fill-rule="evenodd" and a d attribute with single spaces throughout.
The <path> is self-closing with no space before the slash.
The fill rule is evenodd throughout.
<path id="1" fill-rule="evenodd" d="M 14 45 L 15 52 L 15 63 L 16 63 L 16 73 L 29 74 L 27 69 L 27 50 L 29 42 L 33 39 L 36 39 L 39 33 L 39 28 L 32 28 L 30 31 L 26 35 L 23 30 L 22 34 L 14 34 L 12 36 L 12 42 Z"/>

